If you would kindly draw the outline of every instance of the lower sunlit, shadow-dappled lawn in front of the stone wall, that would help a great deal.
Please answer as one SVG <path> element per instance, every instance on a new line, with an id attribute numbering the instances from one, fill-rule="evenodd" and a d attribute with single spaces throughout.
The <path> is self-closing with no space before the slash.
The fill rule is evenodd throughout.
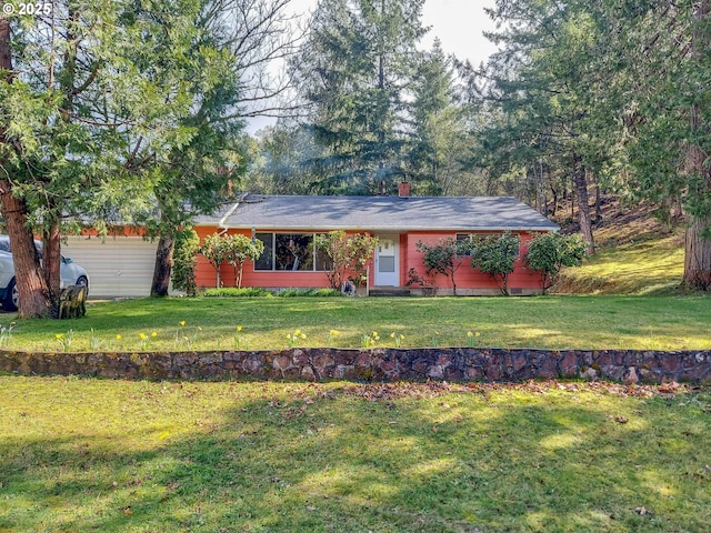
<path id="1" fill-rule="evenodd" d="M 711 391 L 0 376 L 0 531 L 693 532 Z"/>

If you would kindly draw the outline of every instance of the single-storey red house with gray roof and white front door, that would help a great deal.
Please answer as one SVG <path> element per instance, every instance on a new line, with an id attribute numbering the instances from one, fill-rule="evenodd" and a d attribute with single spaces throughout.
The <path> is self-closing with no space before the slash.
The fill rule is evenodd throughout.
<path id="1" fill-rule="evenodd" d="M 316 249 L 313 235 L 343 230 L 377 237 L 379 244 L 369 266 L 368 288 L 405 288 L 410 269 L 427 278 L 423 254 L 417 243 L 441 239 L 468 239 L 511 231 L 521 237 L 520 258 L 509 276 L 511 294 L 540 293 L 540 275 L 525 269 L 522 257 L 535 232 L 559 228 L 529 205 L 510 197 L 300 197 L 247 194 L 214 217 L 194 222 L 201 240 L 219 233 L 241 233 L 264 243 L 264 252 L 244 265 L 242 286 L 267 289 L 329 286 L 328 257 Z M 458 294 L 499 294 L 488 274 L 461 258 L 457 271 Z M 233 285 L 229 264 L 220 270 L 222 284 Z M 216 286 L 214 269 L 200 258 L 198 286 Z M 451 293 L 449 279 L 432 280 L 440 294 Z M 417 291 L 417 290 L 415 290 Z"/>

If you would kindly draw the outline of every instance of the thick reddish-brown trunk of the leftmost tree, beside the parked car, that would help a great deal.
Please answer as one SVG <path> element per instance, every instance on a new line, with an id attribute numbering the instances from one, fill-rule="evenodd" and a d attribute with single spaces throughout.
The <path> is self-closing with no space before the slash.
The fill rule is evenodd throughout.
<path id="1" fill-rule="evenodd" d="M 10 72 L 8 83 L 12 83 L 12 53 L 10 49 L 10 21 L 0 14 L 0 70 Z M 0 124 L 0 145 L 9 144 L 6 129 Z M 0 168 L 8 169 L 0 160 Z M 34 238 L 27 223 L 27 204 L 12 193 L 12 182 L 0 180 L 0 205 L 8 227 L 16 283 L 20 294 L 18 315 L 49 316 L 51 311 L 49 291 L 42 275 L 40 258 L 34 248 Z"/>

